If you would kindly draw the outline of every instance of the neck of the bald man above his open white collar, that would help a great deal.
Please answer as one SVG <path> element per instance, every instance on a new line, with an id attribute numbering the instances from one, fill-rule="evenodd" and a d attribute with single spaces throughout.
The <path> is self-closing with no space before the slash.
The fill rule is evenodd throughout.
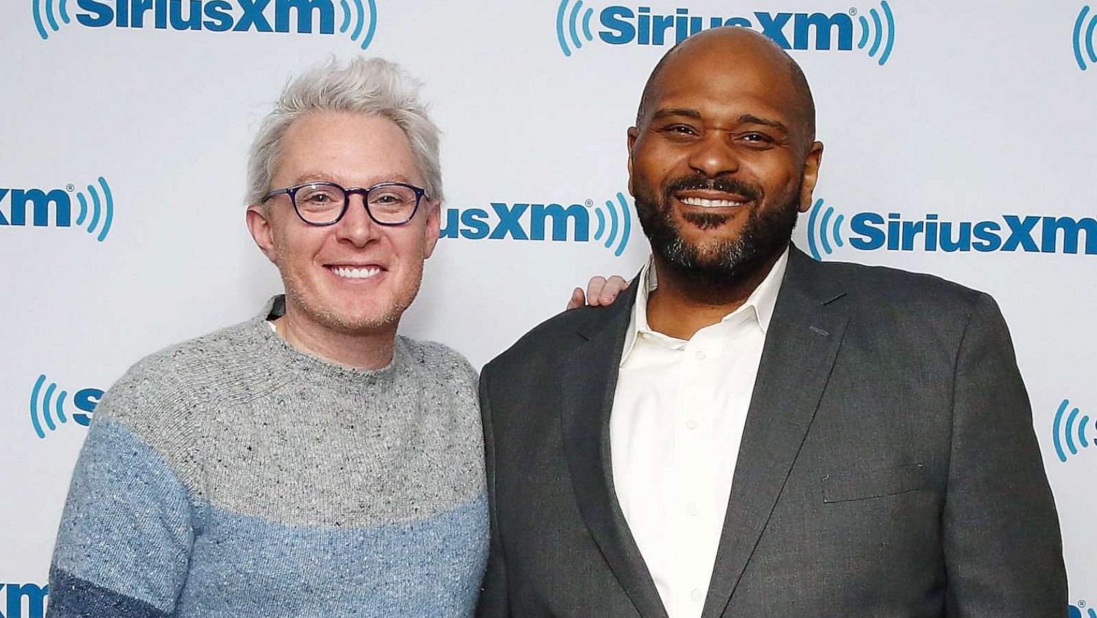
<path id="1" fill-rule="evenodd" d="M 692 338 L 743 306 L 783 252 L 784 248 L 744 277 L 720 281 L 690 277 L 655 254 L 653 267 L 659 286 L 647 296 L 648 326 L 678 339 Z"/>

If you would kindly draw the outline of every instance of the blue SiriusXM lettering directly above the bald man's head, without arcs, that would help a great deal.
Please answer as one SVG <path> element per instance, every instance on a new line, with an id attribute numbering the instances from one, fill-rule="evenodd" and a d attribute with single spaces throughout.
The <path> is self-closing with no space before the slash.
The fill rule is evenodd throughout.
<path id="1" fill-rule="evenodd" d="M 598 36 L 610 45 L 674 45 L 705 27 L 740 26 L 758 30 L 784 49 L 852 49 L 853 20 L 846 13 L 767 13 L 750 16 L 700 16 L 689 9 L 652 12 L 648 7 L 612 5 L 602 9 Z M 791 40 L 790 40 L 791 35 Z"/>

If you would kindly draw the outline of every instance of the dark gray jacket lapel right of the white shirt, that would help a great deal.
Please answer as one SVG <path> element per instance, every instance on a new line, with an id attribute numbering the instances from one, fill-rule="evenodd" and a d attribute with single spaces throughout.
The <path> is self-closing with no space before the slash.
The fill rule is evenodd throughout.
<path id="1" fill-rule="evenodd" d="M 762 348 L 702 618 L 727 607 L 800 452 L 848 316 L 844 295 L 794 247 Z"/>

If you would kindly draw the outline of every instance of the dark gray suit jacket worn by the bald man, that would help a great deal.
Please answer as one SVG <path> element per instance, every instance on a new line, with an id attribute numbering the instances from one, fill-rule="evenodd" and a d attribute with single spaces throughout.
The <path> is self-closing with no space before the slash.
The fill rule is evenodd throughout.
<path id="1" fill-rule="evenodd" d="M 561 314 L 485 367 L 485 617 L 665 618 L 613 492 L 635 300 Z M 1059 523 L 986 294 L 795 248 L 703 618 L 1066 616 Z"/>

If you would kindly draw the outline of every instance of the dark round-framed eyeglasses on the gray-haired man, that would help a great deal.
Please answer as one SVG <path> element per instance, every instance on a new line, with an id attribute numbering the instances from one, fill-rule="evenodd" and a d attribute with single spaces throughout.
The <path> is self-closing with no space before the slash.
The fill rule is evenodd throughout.
<path id="1" fill-rule="evenodd" d="M 427 191 L 406 182 L 378 182 L 364 189 L 347 189 L 335 182 L 306 182 L 271 191 L 263 195 L 263 202 L 283 193 L 290 195 L 301 221 L 309 225 L 339 223 L 354 193 L 362 194 L 365 212 L 377 225 L 404 225 L 415 216 Z"/>

